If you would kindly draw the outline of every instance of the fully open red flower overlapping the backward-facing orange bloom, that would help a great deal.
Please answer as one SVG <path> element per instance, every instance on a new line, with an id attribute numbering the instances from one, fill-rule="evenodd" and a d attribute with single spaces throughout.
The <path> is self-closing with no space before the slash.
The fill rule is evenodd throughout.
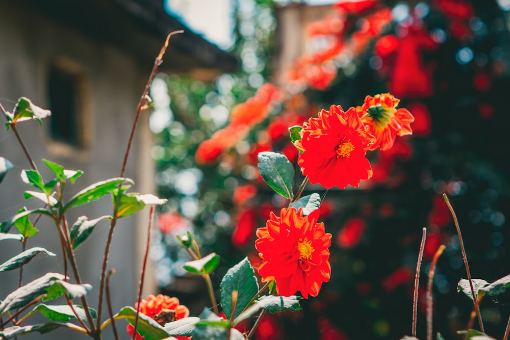
<path id="1" fill-rule="evenodd" d="M 372 177 L 372 168 L 365 157 L 375 138 L 354 108 L 344 112 L 340 106 L 319 112 L 319 118 L 304 122 L 301 140 L 294 145 L 303 153 L 297 163 L 312 184 L 324 188 L 344 189 L 360 185 L 360 179 Z"/>

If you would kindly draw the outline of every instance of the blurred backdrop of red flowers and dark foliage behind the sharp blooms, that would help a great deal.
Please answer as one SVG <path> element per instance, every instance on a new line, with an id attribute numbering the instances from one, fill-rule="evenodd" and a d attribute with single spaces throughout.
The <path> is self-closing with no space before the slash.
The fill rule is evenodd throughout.
<path id="1" fill-rule="evenodd" d="M 173 2 L 176 13 L 182 3 Z M 301 303 L 301 312 L 264 319 L 256 338 L 410 335 L 422 227 L 418 337 L 425 337 L 430 259 L 444 244 L 433 281 L 434 329 L 460 338 L 456 331 L 466 327 L 472 304 L 457 293 L 466 272 L 443 193 L 458 216 L 472 276 L 492 282 L 510 272 L 510 2 L 229 4 L 228 16 L 217 19 L 230 23 L 233 38 L 221 44 L 230 45 L 239 70 L 212 83 L 160 74 L 151 88 L 151 156 L 160 197 L 169 199 L 151 249 L 161 292 L 179 297 L 192 315 L 208 303 L 200 278 L 182 269 L 189 257 L 175 234 L 187 230 L 203 253 L 220 254 L 214 283 L 246 254 L 258 266 L 255 230 L 288 202 L 259 177 L 257 153 L 279 151 L 296 164 L 288 127 L 332 104 L 347 109 L 366 95 L 391 92 L 415 116 L 413 136 L 369 152 L 374 175 L 360 188 L 305 188 L 303 195 L 323 197 L 320 221 L 333 234 L 331 280 Z M 301 180 L 296 176 L 295 188 Z M 508 293 L 481 303 L 486 332 L 495 338 L 503 336 L 508 303 Z"/>

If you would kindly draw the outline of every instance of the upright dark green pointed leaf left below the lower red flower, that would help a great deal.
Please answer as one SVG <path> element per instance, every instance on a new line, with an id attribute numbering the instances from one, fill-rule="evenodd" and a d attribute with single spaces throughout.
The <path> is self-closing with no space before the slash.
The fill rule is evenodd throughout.
<path id="1" fill-rule="evenodd" d="M 232 310 L 232 292 L 237 291 L 238 298 L 236 309 Z M 229 269 L 220 283 L 221 307 L 227 319 L 234 318 L 248 306 L 251 299 L 259 292 L 259 283 L 255 272 L 251 267 L 248 257 L 245 257 L 240 263 Z"/>

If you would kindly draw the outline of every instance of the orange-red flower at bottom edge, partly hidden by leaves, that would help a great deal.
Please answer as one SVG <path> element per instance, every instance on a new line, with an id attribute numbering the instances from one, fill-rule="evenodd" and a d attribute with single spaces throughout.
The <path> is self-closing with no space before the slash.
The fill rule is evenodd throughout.
<path id="1" fill-rule="evenodd" d="M 156 320 L 162 326 L 167 322 L 187 318 L 190 315 L 188 308 L 180 305 L 177 298 L 161 294 L 158 296 L 149 295 L 147 300 L 142 299 L 140 305 L 136 303 L 135 307 L 139 312 Z M 126 330 L 133 336 L 135 328 L 131 324 L 127 325 Z M 181 340 L 191 339 L 188 336 L 176 335 L 175 337 Z M 137 333 L 136 340 L 143 340 L 143 337 Z"/>

